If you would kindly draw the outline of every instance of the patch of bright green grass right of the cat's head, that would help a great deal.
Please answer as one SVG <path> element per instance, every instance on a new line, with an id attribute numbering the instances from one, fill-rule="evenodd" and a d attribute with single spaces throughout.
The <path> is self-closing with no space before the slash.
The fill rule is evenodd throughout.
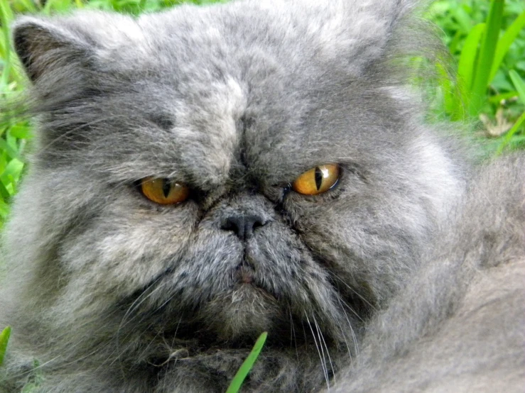
<path id="1" fill-rule="evenodd" d="M 429 11 L 455 60 L 444 75 L 435 112 L 450 121 L 482 121 L 490 154 L 525 148 L 525 2 L 442 0 Z M 438 72 L 439 73 L 439 72 Z M 443 75 L 443 72 L 441 72 Z"/>

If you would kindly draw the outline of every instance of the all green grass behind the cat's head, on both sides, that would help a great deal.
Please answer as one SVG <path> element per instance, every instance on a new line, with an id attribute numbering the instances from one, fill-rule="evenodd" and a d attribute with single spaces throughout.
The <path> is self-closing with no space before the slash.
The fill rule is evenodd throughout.
<path id="1" fill-rule="evenodd" d="M 210 4 L 225 0 L 193 0 Z M 104 9 L 139 14 L 165 9 L 184 0 L 0 0 L 0 105 L 27 86 L 10 49 L 9 26 L 18 13 L 55 14 L 71 9 Z M 427 17 L 443 31 L 458 77 L 438 67 L 431 96 L 440 119 L 477 122 L 476 135 L 487 138 L 491 154 L 525 148 L 525 1 L 438 0 Z M 440 68 L 441 67 L 441 68 Z M 0 110 L 1 110 L 0 106 Z M 9 213 L 31 142 L 27 119 L 0 118 L 0 226 Z M 7 114 L 9 115 L 9 114 Z"/>

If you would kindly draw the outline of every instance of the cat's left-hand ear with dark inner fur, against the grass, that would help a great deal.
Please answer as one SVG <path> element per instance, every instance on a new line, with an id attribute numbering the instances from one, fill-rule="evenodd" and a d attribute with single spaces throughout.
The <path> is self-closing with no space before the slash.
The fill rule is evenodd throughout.
<path id="1" fill-rule="evenodd" d="M 97 11 L 60 18 L 24 16 L 13 25 L 13 44 L 33 83 L 46 74 L 79 74 L 94 70 L 110 43 L 126 34 L 120 26 L 134 26 L 126 16 Z M 127 28 L 127 31 L 130 29 Z"/>

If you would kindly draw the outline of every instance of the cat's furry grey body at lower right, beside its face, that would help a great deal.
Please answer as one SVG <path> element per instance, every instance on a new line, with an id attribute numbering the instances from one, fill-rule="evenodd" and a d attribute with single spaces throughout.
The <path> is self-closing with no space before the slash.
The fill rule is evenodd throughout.
<path id="1" fill-rule="evenodd" d="M 480 168 L 335 392 L 523 392 L 525 159 Z"/>

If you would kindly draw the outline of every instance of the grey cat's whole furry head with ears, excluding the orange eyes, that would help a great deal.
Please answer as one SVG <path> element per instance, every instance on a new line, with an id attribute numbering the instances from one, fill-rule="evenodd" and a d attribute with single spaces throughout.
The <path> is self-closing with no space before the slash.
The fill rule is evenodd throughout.
<path id="1" fill-rule="evenodd" d="M 11 233 L 34 222 L 22 258 L 53 326 L 340 348 L 396 291 L 455 187 L 380 74 L 401 9 L 293 4 L 18 23 L 40 126 Z M 333 187 L 291 186 L 322 165 Z M 149 178 L 188 195 L 151 201 Z"/>

